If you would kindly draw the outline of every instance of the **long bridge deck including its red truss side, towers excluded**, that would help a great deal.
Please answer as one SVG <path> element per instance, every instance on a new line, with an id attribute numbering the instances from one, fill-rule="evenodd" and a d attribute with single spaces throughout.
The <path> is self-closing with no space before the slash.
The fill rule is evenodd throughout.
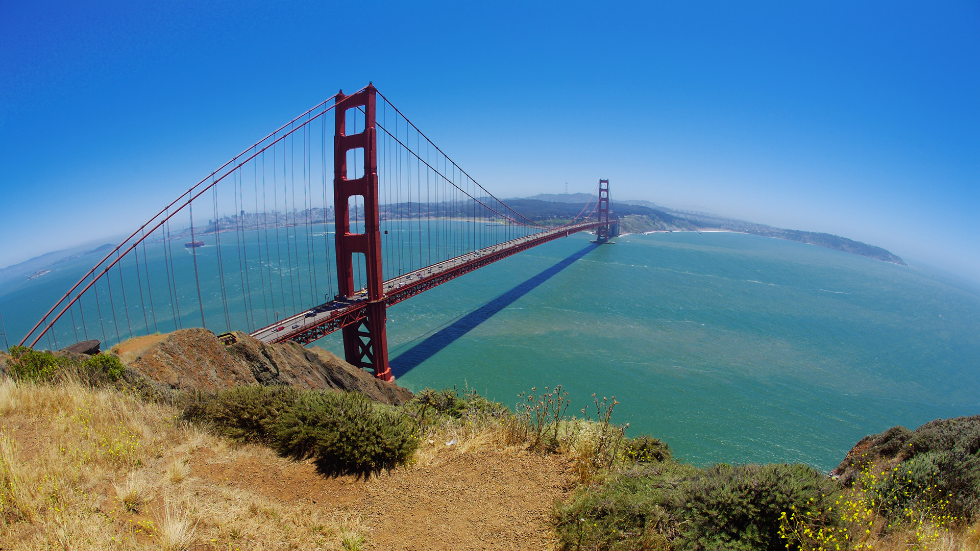
<path id="1" fill-rule="evenodd" d="M 392 277 L 384 282 L 385 306 L 391 306 L 431 289 L 450 279 L 468 274 L 477 268 L 507 258 L 536 245 L 547 243 L 586 229 L 608 223 L 590 222 L 569 225 L 560 229 L 548 229 L 533 235 L 518 237 L 465 255 L 426 266 L 408 274 Z M 349 326 L 368 317 L 368 291 L 362 289 L 352 296 L 341 297 L 257 329 L 251 335 L 262 342 L 273 343 L 293 340 L 309 343 L 341 327 Z"/>

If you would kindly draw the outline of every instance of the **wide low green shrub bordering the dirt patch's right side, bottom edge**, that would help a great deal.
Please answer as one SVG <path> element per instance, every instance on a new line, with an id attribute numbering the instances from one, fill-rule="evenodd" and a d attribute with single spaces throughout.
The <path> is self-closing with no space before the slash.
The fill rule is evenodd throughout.
<path id="1" fill-rule="evenodd" d="M 835 487 L 803 465 L 641 464 L 559 507 L 560 548 L 775 551 L 780 515 L 822 507 Z"/>

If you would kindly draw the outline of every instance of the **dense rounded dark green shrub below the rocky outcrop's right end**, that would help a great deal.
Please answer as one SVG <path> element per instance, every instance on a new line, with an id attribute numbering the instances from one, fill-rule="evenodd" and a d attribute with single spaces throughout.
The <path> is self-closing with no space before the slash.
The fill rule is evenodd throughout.
<path id="1" fill-rule="evenodd" d="M 276 449 L 313 459 L 324 476 L 367 477 L 409 461 L 418 446 L 407 416 L 355 392 L 311 392 L 287 408 L 275 427 Z"/>

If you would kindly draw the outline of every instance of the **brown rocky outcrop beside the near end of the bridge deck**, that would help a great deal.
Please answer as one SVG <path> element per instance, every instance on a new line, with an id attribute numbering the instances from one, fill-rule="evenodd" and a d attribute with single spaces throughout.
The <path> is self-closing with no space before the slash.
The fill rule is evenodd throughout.
<path id="1" fill-rule="evenodd" d="M 358 391 L 385 404 L 412 398 L 407 388 L 375 378 L 317 346 L 265 344 L 241 331 L 232 334 L 234 342 L 226 345 L 207 329 L 180 329 L 130 339 L 112 352 L 128 370 L 161 389 L 215 392 L 242 384 L 284 384 Z"/>

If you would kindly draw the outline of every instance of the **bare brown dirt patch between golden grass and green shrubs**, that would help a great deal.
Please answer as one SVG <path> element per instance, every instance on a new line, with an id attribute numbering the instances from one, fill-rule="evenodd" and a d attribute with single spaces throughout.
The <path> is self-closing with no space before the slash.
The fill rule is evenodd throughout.
<path id="1" fill-rule="evenodd" d="M 563 458 L 516 450 L 447 448 L 428 465 L 369 480 L 324 478 L 270 452 L 220 457 L 202 448 L 189 465 L 208 484 L 360 517 L 372 550 L 550 549 L 549 515 L 571 489 Z"/>

